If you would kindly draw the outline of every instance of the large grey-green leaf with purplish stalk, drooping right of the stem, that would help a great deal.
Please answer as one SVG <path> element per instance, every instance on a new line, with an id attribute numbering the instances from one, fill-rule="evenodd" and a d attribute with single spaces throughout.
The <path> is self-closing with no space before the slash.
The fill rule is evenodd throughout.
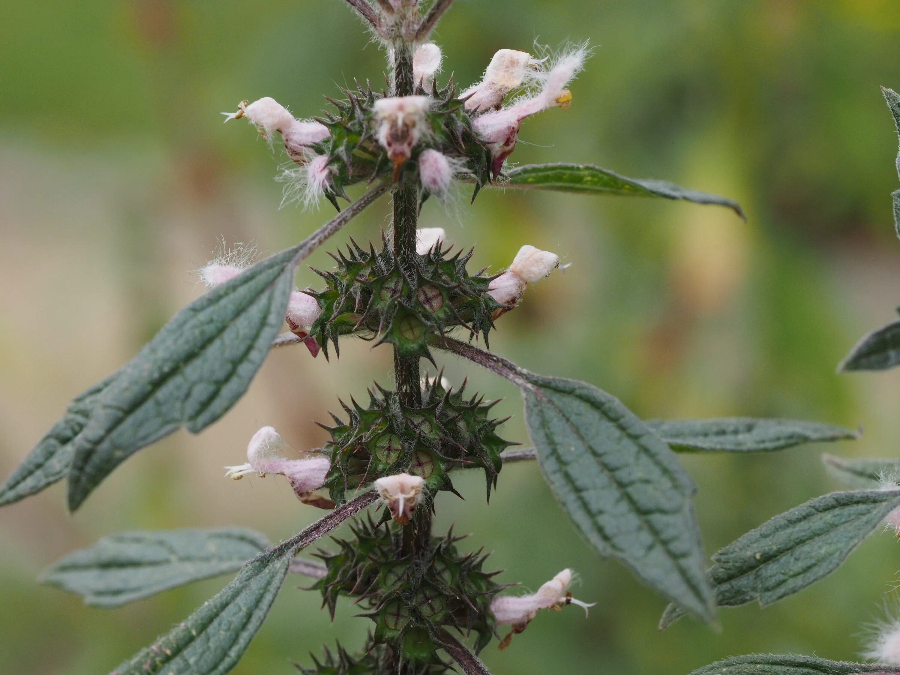
<path id="1" fill-rule="evenodd" d="M 713 620 L 695 488 L 660 437 L 590 384 L 529 373 L 458 340 L 434 344 L 518 384 L 547 482 L 599 554 L 617 558 L 679 607 Z"/>

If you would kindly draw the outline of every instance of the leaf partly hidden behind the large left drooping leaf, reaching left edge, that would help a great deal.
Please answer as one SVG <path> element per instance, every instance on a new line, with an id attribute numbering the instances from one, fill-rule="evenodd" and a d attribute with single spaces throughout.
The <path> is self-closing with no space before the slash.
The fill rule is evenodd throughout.
<path id="1" fill-rule="evenodd" d="M 69 403 L 66 415 L 50 428 L 23 463 L 0 485 L 0 506 L 23 500 L 65 478 L 72 463 L 72 441 L 85 428 L 100 394 L 116 375 L 94 384 Z"/>

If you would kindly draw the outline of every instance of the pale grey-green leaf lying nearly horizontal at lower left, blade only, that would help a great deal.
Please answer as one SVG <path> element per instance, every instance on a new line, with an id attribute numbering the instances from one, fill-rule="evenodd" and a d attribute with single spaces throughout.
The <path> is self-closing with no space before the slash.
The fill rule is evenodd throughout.
<path id="1" fill-rule="evenodd" d="M 265 536 L 244 527 L 121 532 L 68 554 L 41 581 L 83 596 L 87 605 L 119 607 L 237 572 L 266 548 Z"/>

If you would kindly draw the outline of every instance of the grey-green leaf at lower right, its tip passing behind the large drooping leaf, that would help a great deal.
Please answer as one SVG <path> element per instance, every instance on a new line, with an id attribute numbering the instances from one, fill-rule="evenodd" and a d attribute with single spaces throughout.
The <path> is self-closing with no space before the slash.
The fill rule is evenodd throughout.
<path id="1" fill-rule="evenodd" d="M 898 506 L 900 490 L 832 492 L 771 518 L 713 556 L 716 604 L 766 606 L 805 589 L 834 572 Z M 683 615 L 670 605 L 660 627 Z"/>

